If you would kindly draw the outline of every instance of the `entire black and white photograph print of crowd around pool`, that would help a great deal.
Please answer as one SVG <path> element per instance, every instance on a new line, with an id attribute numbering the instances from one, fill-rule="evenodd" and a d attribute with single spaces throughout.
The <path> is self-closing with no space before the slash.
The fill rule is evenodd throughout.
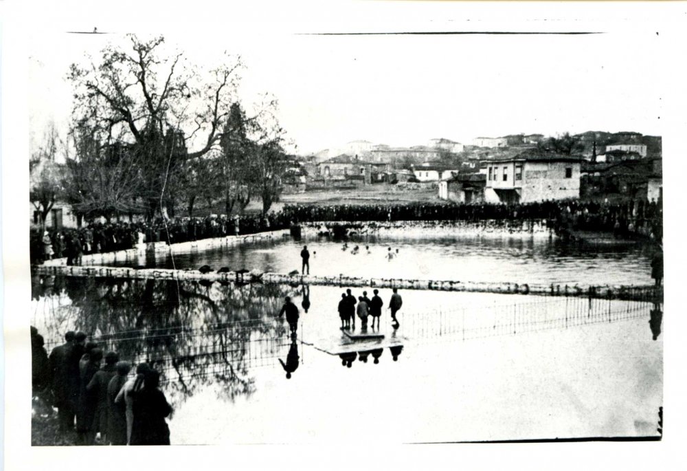
<path id="1" fill-rule="evenodd" d="M 25 32 L 24 446 L 662 441 L 677 46 L 427 7 Z"/>

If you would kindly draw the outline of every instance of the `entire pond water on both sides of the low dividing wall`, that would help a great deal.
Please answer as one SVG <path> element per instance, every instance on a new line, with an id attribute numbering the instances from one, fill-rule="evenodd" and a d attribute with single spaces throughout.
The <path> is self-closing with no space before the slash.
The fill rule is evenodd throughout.
<path id="1" fill-rule="evenodd" d="M 289 272 L 300 268 L 304 244 L 317 252 L 313 274 L 651 283 L 649 248 L 532 239 L 369 237 L 346 251 L 322 238 L 284 239 L 176 255 L 173 265 Z M 398 248 L 392 260 L 389 247 Z M 165 256 L 130 263 L 142 262 L 172 266 Z M 34 276 L 32 288 L 32 325 L 48 351 L 80 329 L 161 371 L 172 443 L 657 433 L 662 307 L 649 302 L 407 290 L 401 326 L 392 328 L 384 309 L 377 332 L 385 338 L 356 347 L 339 329 L 340 287 Z M 284 296 L 300 309 L 295 339 L 277 317 Z M 386 306 L 391 291 L 380 296 Z"/>

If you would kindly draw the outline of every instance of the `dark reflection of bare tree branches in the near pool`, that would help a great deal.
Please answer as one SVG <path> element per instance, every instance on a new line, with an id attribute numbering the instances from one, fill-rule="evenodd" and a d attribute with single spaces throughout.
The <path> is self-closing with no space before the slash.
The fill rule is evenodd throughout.
<path id="1" fill-rule="evenodd" d="M 33 325 L 47 351 L 73 329 L 150 363 L 174 405 L 211 385 L 233 400 L 255 391 L 249 369 L 271 366 L 289 344 L 275 319 L 289 295 L 281 285 L 34 276 Z"/>

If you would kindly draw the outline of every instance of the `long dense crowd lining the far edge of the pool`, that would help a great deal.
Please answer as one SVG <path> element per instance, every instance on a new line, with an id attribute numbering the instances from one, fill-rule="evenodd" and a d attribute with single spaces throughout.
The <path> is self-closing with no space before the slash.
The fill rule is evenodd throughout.
<path id="1" fill-rule="evenodd" d="M 412 203 L 405 205 L 287 205 L 266 215 L 210 215 L 205 218 L 157 219 L 151 222 L 88 223 L 79 229 L 31 234 L 33 263 L 67 256 L 78 265 L 82 254 L 112 252 L 137 243 L 177 243 L 255 234 L 317 221 L 546 221 L 550 228 L 608 231 L 617 237 L 662 238 L 662 205 L 645 199 L 622 203 L 560 200 L 517 204 Z"/>

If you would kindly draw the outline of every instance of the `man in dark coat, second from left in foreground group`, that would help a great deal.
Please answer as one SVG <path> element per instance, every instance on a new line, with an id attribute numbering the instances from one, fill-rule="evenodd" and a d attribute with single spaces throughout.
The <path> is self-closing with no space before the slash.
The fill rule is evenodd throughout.
<path id="1" fill-rule="evenodd" d="M 58 345 L 50 352 L 48 358 L 52 373 L 52 395 L 57 407 L 59 430 L 66 432 L 74 428 L 74 404 L 70 397 L 69 358 L 74 349 L 76 333 L 65 333 L 65 343 Z"/>

